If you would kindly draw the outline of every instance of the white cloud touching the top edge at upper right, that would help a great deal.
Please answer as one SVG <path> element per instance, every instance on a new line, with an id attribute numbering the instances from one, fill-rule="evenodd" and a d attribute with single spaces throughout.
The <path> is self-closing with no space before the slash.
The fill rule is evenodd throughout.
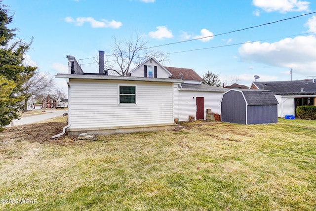
<path id="1" fill-rule="evenodd" d="M 252 3 L 266 12 L 309 11 L 311 2 L 305 0 L 252 0 Z"/>

